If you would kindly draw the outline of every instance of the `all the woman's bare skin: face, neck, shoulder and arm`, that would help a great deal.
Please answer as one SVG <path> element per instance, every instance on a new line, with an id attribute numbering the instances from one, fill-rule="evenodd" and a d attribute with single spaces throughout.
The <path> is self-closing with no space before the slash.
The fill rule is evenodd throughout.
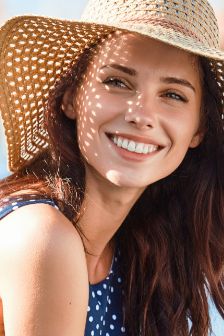
<path id="1" fill-rule="evenodd" d="M 65 114 L 77 120 L 86 160 L 78 224 L 94 255 L 85 254 L 74 226 L 49 205 L 6 216 L 0 225 L 1 335 L 83 336 L 88 285 L 107 275 L 115 232 L 145 188 L 174 171 L 201 141 L 200 78 L 194 56 L 137 34 L 117 33 L 99 47 L 77 94 L 68 89 L 63 99 Z M 136 156 L 118 151 L 107 133 L 159 147 L 147 158 Z"/>

